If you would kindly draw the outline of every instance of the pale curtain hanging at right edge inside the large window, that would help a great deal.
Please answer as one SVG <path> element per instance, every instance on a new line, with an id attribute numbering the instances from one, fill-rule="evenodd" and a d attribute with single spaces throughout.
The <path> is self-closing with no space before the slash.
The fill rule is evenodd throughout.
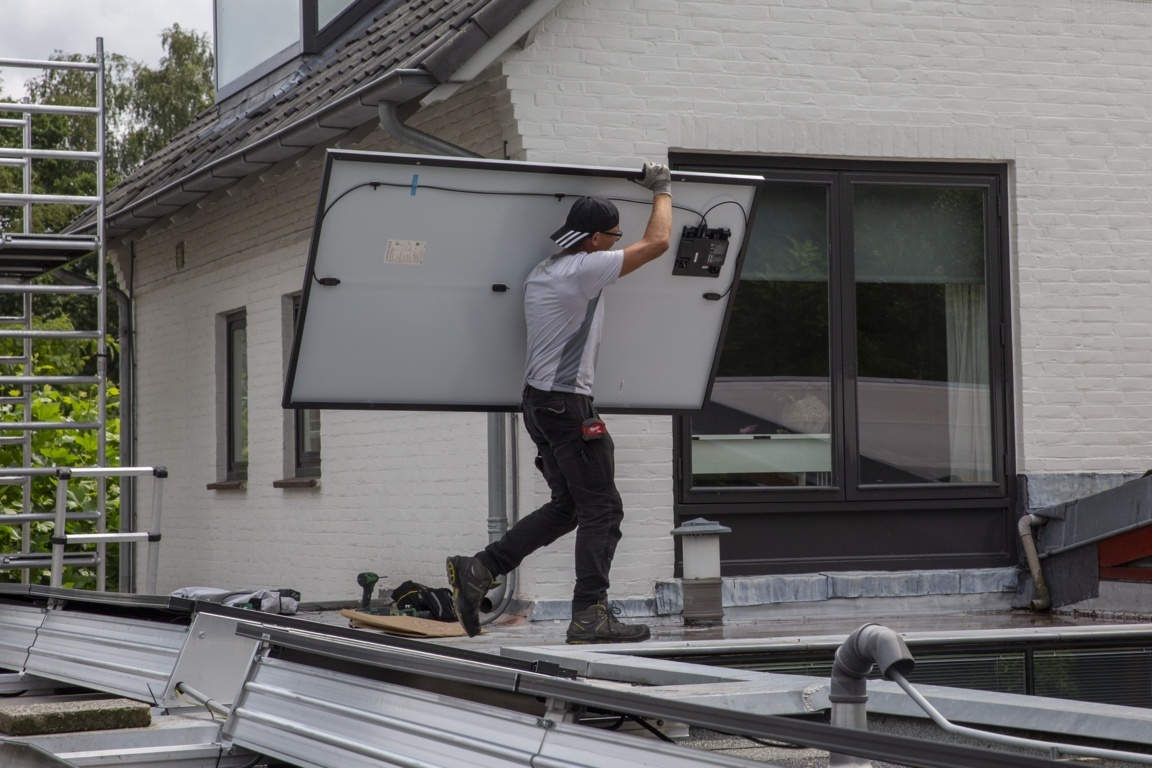
<path id="1" fill-rule="evenodd" d="M 945 286 L 953 482 L 992 482 L 987 298 L 979 283 Z"/>

